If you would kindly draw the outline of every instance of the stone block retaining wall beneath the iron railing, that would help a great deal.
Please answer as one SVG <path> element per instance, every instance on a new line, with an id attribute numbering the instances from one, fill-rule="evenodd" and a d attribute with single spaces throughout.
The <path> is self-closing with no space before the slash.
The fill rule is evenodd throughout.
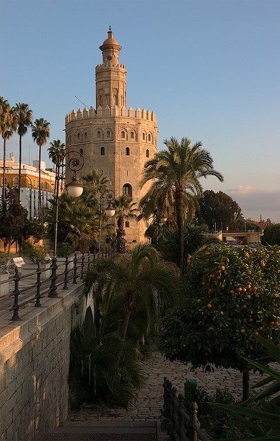
<path id="1" fill-rule="evenodd" d="M 80 283 L 20 309 L 17 322 L 1 317 L 1 441 L 32 441 L 66 419 L 70 331 L 83 300 Z"/>

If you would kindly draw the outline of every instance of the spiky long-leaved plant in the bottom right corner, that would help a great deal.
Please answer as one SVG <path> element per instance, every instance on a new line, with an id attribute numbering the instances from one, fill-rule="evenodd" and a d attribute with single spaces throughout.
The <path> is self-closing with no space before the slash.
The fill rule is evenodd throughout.
<path id="1" fill-rule="evenodd" d="M 264 351 L 268 354 L 270 360 L 274 360 L 279 364 L 279 349 L 277 349 L 272 342 L 262 338 L 261 336 L 254 336 L 257 342 L 261 344 Z M 254 394 L 247 401 L 239 406 L 229 404 L 219 404 L 218 411 L 224 409 L 230 411 L 236 416 L 250 433 L 248 438 L 240 438 L 241 440 L 277 440 L 280 435 L 279 427 L 279 391 L 280 391 L 280 373 L 279 369 L 273 369 L 266 365 L 261 365 L 259 362 L 247 360 L 259 371 L 268 374 L 264 380 L 254 384 L 252 389 L 262 387 L 259 393 Z M 263 389 L 263 386 L 266 386 Z M 235 436 L 238 434 L 235 433 Z M 253 436 L 252 436 L 253 435 Z M 235 438 L 236 439 L 236 438 Z"/>

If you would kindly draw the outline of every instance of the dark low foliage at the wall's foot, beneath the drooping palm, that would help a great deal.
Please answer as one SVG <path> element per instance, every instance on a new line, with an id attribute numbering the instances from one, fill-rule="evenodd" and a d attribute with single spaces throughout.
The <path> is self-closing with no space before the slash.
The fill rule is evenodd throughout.
<path id="1" fill-rule="evenodd" d="M 117 362 L 121 351 L 122 356 Z M 70 404 L 85 400 L 128 407 L 144 377 L 137 350 L 116 333 L 94 335 L 76 328 L 70 338 Z"/>

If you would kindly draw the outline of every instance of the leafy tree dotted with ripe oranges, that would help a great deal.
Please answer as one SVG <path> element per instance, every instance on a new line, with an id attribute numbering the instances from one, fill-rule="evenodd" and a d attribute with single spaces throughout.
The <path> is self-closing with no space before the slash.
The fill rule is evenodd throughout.
<path id="1" fill-rule="evenodd" d="M 183 278 L 183 305 L 164 317 L 163 352 L 194 368 L 239 369 L 246 400 L 250 365 L 243 357 L 265 355 L 252 333 L 279 346 L 279 279 L 280 247 L 199 249 Z"/>

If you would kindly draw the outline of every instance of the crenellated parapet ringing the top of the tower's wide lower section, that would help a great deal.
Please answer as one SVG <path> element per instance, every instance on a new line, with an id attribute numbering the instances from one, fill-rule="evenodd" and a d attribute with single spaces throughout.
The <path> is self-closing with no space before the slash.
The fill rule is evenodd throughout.
<path id="1" fill-rule="evenodd" d="M 129 107 L 128 109 L 126 109 L 126 107 L 119 107 L 117 105 L 114 105 L 112 107 L 109 107 L 107 105 L 105 108 L 99 106 L 97 110 L 95 110 L 92 106 L 90 106 L 90 109 L 88 109 L 88 107 L 85 107 L 83 110 L 81 110 L 80 108 L 77 111 L 72 110 L 72 112 L 66 115 L 66 124 L 70 123 L 71 121 L 88 118 L 100 118 L 101 116 L 122 116 L 126 118 L 137 118 L 143 119 L 144 121 L 152 121 L 154 123 L 157 123 L 157 116 L 154 114 L 154 112 L 150 112 L 150 110 L 140 109 L 139 107 L 134 110 L 133 107 Z"/>

